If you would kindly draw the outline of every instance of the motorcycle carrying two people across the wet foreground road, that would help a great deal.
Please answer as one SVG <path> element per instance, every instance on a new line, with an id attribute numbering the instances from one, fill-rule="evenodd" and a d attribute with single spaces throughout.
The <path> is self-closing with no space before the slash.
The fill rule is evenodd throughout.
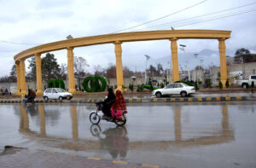
<path id="1" fill-rule="evenodd" d="M 99 113 L 102 112 L 102 107 L 103 107 L 103 101 L 96 102 L 96 111 L 90 112 L 90 123 L 91 124 L 97 125 L 100 123 L 102 116 Z M 126 123 L 126 113 L 127 113 L 126 110 L 122 112 L 121 119 L 116 119 L 116 118 L 110 117 L 105 120 L 108 122 L 113 122 L 118 126 L 122 126 L 122 125 L 125 125 L 125 123 Z"/>

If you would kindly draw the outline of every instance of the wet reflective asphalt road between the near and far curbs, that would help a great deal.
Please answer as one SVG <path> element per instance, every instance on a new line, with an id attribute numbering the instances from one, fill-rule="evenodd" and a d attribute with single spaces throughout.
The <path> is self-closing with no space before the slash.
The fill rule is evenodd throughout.
<path id="1" fill-rule="evenodd" d="M 255 101 L 129 104 L 125 127 L 94 104 L 0 106 L 5 145 L 166 167 L 255 167 Z"/>

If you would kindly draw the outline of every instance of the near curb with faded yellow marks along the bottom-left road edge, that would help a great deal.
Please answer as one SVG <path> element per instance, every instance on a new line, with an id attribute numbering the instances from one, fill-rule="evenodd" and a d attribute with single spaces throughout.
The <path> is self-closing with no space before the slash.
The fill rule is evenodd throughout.
<path id="1" fill-rule="evenodd" d="M 39 149 L 39 148 L 23 148 L 20 146 L 8 146 L 9 148 L 21 148 L 21 149 L 27 149 L 27 150 L 32 150 L 32 151 L 39 151 L 39 152 L 44 152 L 44 153 L 48 153 L 48 154 L 64 154 L 64 155 L 68 155 L 71 157 L 79 157 L 79 158 L 84 158 L 84 159 L 88 159 L 88 160 L 96 160 L 96 161 L 106 161 L 106 162 L 110 162 L 113 164 L 117 164 L 117 165 L 132 165 L 132 166 L 141 166 L 141 167 L 148 167 L 148 168 L 166 168 L 160 165 L 148 165 L 148 164 L 137 164 L 137 163 L 130 163 L 124 160 L 116 160 L 116 159 L 102 159 L 102 158 L 96 158 L 96 157 L 86 157 L 86 156 L 82 156 L 79 154 L 71 154 L 71 153 L 61 153 L 61 152 L 55 152 L 55 151 L 49 151 L 49 150 L 44 150 L 44 149 Z"/>

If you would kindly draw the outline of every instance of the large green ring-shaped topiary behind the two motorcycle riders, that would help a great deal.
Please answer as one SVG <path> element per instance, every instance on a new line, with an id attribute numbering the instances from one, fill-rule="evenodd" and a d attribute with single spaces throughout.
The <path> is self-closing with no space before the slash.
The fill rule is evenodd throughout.
<path id="1" fill-rule="evenodd" d="M 87 77 L 83 82 L 84 90 L 87 92 L 102 92 L 106 90 L 107 81 L 103 77 Z M 90 85 L 90 87 L 89 87 Z"/>

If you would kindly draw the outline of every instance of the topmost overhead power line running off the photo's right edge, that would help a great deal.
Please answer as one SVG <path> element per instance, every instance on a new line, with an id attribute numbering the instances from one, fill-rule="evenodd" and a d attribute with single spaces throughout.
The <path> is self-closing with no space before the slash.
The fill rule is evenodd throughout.
<path id="1" fill-rule="evenodd" d="M 184 20 L 192 20 L 192 19 L 195 19 L 195 18 L 201 18 L 201 17 L 207 16 L 207 15 L 223 13 L 223 12 L 226 12 L 226 11 L 229 11 L 229 10 L 233 10 L 233 9 L 240 9 L 240 8 L 243 8 L 243 7 L 250 6 L 250 5 L 252 5 L 252 4 L 255 4 L 255 3 L 248 3 L 248 4 L 245 4 L 245 5 L 242 5 L 242 6 L 238 6 L 238 7 L 235 7 L 235 8 L 219 10 L 219 11 L 217 11 L 217 12 L 213 12 L 213 13 L 210 13 L 210 14 L 203 14 L 203 15 L 199 15 L 199 16 L 195 16 L 195 17 L 191 17 L 191 18 L 187 18 L 187 19 L 183 19 L 183 20 L 176 20 L 176 21 L 172 21 L 172 22 L 168 22 L 168 23 L 164 23 L 164 24 L 159 24 L 159 25 L 154 25 L 154 26 L 148 26 L 148 27 L 145 27 L 145 28 L 137 29 L 137 30 L 143 30 L 143 29 L 152 28 L 152 27 L 158 27 L 158 26 L 164 26 L 164 25 L 174 24 L 174 23 L 177 23 L 177 22 L 182 22 L 182 21 L 184 21 Z M 172 26 L 173 26 L 173 25 L 172 25 Z"/>

